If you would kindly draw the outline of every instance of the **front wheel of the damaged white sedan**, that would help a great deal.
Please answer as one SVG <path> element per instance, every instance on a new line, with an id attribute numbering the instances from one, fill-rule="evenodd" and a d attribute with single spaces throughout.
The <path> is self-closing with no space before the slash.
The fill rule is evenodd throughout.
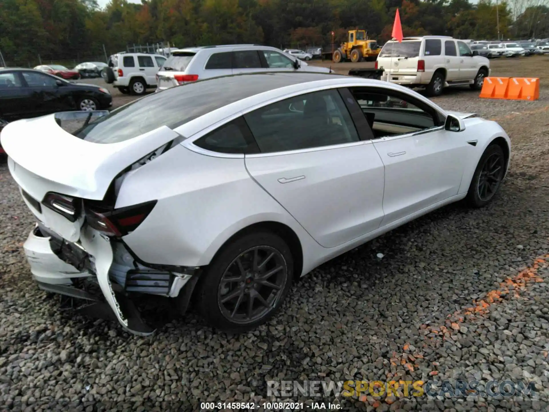
<path id="1" fill-rule="evenodd" d="M 498 144 L 486 148 L 475 169 L 467 193 L 468 203 L 481 208 L 491 202 L 505 175 L 505 155 Z"/>

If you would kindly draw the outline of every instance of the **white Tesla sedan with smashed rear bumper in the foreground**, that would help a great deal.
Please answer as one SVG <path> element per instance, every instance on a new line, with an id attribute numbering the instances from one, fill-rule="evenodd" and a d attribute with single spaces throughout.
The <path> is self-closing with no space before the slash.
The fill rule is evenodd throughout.
<path id="1" fill-rule="evenodd" d="M 142 335 L 143 293 L 192 302 L 222 330 L 265 322 L 324 261 L 445 204 L 491 202 L 511 148 L 494 121 L 320 73 L 19 120 L 2 146 L 36 215 L 24 247 L 38 285 L 107 303 Z"/>

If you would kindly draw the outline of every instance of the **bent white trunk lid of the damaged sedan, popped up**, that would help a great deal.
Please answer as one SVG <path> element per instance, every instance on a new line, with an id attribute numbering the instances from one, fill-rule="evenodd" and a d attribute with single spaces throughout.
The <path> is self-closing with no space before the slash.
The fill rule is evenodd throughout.
<path id="1" fill-rule="evenodd" d="M 72 121 L 76 121 L 89 113 L 58 113 L 15 121 L 4 127 L 1 140 L 9 156 L 10 173 L 29 209 L 47 227 L 75 242 L 83 223 L 82 208 L 76 207 L 75 215 L 67 219 L 63 202 L 47 207 L 43 202 L 46 195 L 59 193 L 70 201 L 74 199 L 77 206 L 81 199 L 102 200 L 121 172 L 181 136 L 160 126 L 124 141 L 97 143 L 64 130 L 59 125 L 63 115 L 69 119 L 74 115 Z"/>

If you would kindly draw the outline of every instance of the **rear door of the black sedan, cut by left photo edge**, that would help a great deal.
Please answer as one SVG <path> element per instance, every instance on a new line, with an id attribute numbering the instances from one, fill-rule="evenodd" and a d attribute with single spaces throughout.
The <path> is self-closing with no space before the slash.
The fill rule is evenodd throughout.
<path id="1" fill-rule="evenodd" d="M 30 90 L 18 71 L 0 74 L 0 119 L 20 118 L 31 112 Z"/>

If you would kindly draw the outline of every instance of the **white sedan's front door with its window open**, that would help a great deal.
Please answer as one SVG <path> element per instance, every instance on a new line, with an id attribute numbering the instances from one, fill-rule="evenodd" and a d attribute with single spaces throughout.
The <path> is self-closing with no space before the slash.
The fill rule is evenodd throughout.
<path id="1" fill-rule="evenodd" d="M 368 118 L 385 165 L 382 226 L 458 193 L 473 146 L 444 130 L 444 116 L 407 93 L 357 87 L 352 93 Z"/>

